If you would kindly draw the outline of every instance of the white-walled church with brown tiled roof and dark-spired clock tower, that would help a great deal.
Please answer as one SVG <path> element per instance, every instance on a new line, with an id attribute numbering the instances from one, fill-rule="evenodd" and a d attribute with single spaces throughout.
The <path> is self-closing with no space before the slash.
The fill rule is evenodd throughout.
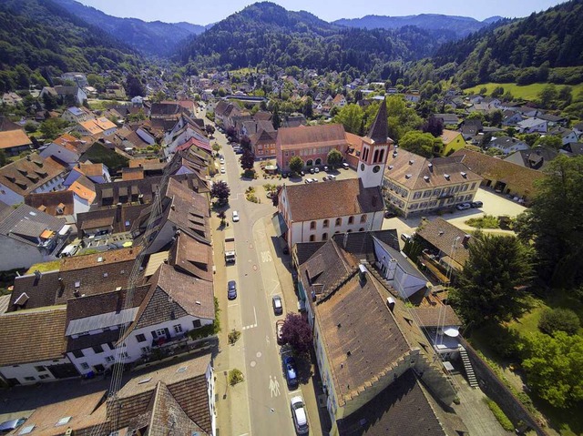
<path id="1" fill-rule="evenodd" d="M 299 242 L 326 241 L 337 233 L 380 230 L 383 227 L 381 186 L 393 143 L 388 137 L 384 101 L 370 132 L 362 141 L 357 177 L 283 185 L 278 195 L 279 213 L 272 221 L 276 233 L 290 248 Z"/>

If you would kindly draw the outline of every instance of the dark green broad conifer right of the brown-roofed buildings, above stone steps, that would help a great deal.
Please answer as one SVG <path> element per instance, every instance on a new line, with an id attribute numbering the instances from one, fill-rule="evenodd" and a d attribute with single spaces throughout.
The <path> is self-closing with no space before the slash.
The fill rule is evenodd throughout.
<path id="1" fill-rule="evenodd" d="M 530 250 L 515 237 L 476 232 L 452 296 L 465 321 L 481 324 L 519 315 L 517 287 L 531 277 L 530 258 Z"/>

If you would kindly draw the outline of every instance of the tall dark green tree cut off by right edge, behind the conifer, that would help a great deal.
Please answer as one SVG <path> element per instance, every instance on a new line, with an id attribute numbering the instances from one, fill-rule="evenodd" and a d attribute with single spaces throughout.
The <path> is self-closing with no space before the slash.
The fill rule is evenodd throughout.
<path id="1" fill-rule="evenodd" d="M 577 286 L 583 281 L 583 156 L 559 155 L 545 173 L 531 207 L 519 216 L 517 234 L 534 242 L 541 279 L 553 286 Z"/>

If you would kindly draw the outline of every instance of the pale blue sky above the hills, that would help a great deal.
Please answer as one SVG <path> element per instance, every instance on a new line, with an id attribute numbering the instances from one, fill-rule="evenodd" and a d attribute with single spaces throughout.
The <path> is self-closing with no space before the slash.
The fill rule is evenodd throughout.
<path id="1" fill-rule="evenodd" d="M 145 21 L 176 23 L 187 21 L 207 25 L 240 11 L 255 2 L 250 0 L 77 0 L 108 15 L 135 17 Z M 335 0 L 275 0 L 274 3 L 292 11 L 308 11 L 323 20 L 358 18 L 363 15 L 445 14 L 472 16 L 483 20 L 492 15 L 527 16 L 550 6 L 563 3 L 557 0 L 368 0 L 354 2 Z M 332 3 L 332 6 L 331 6 Z"/>

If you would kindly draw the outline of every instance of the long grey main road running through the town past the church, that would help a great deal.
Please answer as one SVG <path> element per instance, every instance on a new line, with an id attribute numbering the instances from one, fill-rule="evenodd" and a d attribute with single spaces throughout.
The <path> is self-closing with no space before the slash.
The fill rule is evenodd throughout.
<path id="1" fill-rule="evenodd" d="M 280 284 L 271 257 L 271 240 L 264 231 L 264 218 L 271 216 L 274 208 L 267 204 L 251 203 L 245 198 L 249 182 L 240 178 L 239 155 L 235 155 L 220 132 L 217 131 L 215 136 L 222 147 L 220 154 L 225 158 L 226 174 L 214 178 L 226 180 L 230 187 L 230 208 L 226 215 L 234 229 L 237 261 L 227 267 L 226 279 L 237 280 L 238 296 L 230 301 L 228 310 L 230 318 L 231 313 L 240 316 L 245 361 L 243 373 L 250 415 L 248 432 L 257 436 L 292 435 L 295 431 L 290 398 L 293 394 L 299 395 L 300 390 L 288 390 L 282 371 L 275 321 L 284 318 L 285 305 L 284 315 L 276 317 L 271 298 L 279 293 Z M 232 222 L 233 210 L 239 212 L 239 222 Z M 245 434 L 245 431 L 240 434 Z"/>

